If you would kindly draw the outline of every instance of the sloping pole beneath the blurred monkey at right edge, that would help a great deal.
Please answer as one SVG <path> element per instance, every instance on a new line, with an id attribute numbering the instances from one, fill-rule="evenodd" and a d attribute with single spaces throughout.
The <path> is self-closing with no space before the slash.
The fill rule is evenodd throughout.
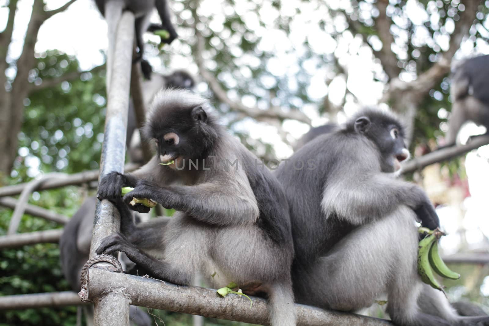
<path id="1" fill-rule="evenodd" d="M 402 173 L 411 173 L 416 170 L 422 169 L 425 166 L 446 161 L 450 158 L 463 155 L 476 148 L 489 144 L 489 135 L 478 136 L 472 139 L 468 144 L 447 147 L 438 151 L 434 151 L 423 155 L 419 158 L 410 160 L 402 165 Z"/>

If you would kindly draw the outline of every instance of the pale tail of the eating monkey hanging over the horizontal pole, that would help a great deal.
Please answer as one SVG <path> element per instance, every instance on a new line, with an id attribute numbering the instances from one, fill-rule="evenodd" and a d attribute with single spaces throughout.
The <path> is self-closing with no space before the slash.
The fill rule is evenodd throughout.
<path id="1" fill-rule="evenodd" d="M 291 283 L 274 283 L 268 291 L 268 319 L 271 326 L 295 326 L 294 294 Z"/>

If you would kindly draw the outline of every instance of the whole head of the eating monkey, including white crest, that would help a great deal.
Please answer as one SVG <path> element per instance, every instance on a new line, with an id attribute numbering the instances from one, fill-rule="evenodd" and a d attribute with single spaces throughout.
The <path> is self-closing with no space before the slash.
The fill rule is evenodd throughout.
<path id="1" fill-rule="evenodd" d="M 205 158 L 221 134 L 207 99 L 184 89 L 163 89 L 153 100 L 144 136 L 154 139 L 163 165 Z"/>

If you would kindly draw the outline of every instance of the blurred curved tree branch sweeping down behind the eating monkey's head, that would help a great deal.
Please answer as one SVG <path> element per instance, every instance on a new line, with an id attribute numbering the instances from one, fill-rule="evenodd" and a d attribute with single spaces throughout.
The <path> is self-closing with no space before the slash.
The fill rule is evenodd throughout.
<path id="1" fill-rule="evenodd" d="M 218 80 L 210 73 L 204 65 L 203 52 L 204 52 L 204 39 L 199 29 L 197 28 L 197 23 L 200 22 L 200 18 L 197 14 L 197 10 L 193 10 L 194 15 L 194 30 L 195 36 L 197 38 L 196 50 L 194 51 L 194 58 L 199 67 L 200 76 L 209 84 L 209 87 L 216 95 L 216 97 L 224 104 L 226 104 L 230 109 L 238 112 L 243 112 L 245 115 L 254 118 L 256 120 L 263 119 L 293 119 L 297 121 L 304 122 L 311 125 L 311 119 L 299 110 L 290 110 L 285 112 L 279 107 L 271 107 L 267 110 L 262 110 L 259 108 L 246 107 L 239 102 L 232 101 L 227 97 L 226 91 L 221 87 Z"/>

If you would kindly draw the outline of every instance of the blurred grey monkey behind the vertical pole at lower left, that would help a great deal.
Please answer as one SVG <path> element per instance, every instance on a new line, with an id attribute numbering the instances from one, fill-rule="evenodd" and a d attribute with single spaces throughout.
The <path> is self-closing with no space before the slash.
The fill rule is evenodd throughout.
<path id="1" fill-rule="evenodd" d="M 95 203 L 96 197 L 89 197 L 83 202 L 65 225 L 60 239 L 61 268 L 71 289 L 76 292 L 81 289 L 80 274 L 83 265 L 89 259 Z M 87 325 L 93 325 L 93 306 L 84 305 L 83 309 Z M 129 315 L 132 325 L 153 325 L 150 316 L 136 306 L 130 307 Z"/>

